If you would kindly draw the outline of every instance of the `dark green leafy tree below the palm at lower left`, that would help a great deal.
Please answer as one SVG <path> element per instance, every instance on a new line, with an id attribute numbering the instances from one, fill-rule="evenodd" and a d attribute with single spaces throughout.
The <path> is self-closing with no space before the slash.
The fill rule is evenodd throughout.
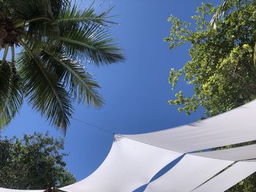
<path id="1" fill-rule="evenodd" d="M 0 140 L 0 187 L 14 189 L 45 189 L 75 183 L 63 158 L 63 139 L 48 134 L 24 134 Z"/>

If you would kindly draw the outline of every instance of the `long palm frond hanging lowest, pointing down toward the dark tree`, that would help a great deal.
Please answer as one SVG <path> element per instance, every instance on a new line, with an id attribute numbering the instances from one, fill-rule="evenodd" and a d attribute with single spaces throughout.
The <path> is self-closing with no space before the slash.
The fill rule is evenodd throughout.
<path id="1" fill-rule="evenodd" d="M 65 133 L 72 114 L 72 99 L 56 74 L 45 67 L 39 55 L 24 42 L 23 47 L 25 51 L 20 53 L 18 64 L 29 104 Z"/>

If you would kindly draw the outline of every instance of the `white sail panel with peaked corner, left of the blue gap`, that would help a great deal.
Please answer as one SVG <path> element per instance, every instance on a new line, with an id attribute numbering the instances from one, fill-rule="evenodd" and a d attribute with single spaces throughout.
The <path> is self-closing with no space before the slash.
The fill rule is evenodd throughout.
<path id="1" fill-rule="evenodd" d="M 180 155 L 182 153 L 117 137 L 108 157 L 94 173 L 61 190 L 131 192 L 147 184 L 154 174 Z"/>

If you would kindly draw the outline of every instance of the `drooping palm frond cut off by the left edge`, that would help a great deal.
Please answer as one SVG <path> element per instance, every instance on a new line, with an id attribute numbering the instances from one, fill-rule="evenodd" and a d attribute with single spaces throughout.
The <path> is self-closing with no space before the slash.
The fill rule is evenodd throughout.
<path id="1" fill-rule="evenodd" d="M 23 103 L 23 85 L 10 62 L 0 64 L 0 129 L 7 126 Z"/>

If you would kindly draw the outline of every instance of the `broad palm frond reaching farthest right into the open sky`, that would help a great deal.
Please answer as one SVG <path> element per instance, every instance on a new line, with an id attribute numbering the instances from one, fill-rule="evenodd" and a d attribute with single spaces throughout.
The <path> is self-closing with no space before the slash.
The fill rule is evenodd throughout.
<path id="1" fill-rule="evenodd" d="M 100 26 L 73 28 L 66 25 L 60 31 L 59 40 L 72 58 L 91 60 L 97 66 L 124 61 L 121 48 Z"/>

